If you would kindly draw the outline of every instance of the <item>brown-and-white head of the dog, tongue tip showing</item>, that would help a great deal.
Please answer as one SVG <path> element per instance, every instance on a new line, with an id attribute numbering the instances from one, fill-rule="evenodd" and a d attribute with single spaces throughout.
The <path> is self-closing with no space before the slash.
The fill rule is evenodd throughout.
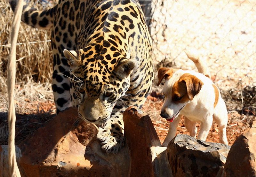
<path id="1" fill-rule="evenodd" d="M 184 106 L 199 93 L 204 83 L 190 73 L 172 68 L 158 70 L 157 86 L 163 79 L 165 79 L 163 88 L 165 99 L 160 115 L 172 122 Z"/>

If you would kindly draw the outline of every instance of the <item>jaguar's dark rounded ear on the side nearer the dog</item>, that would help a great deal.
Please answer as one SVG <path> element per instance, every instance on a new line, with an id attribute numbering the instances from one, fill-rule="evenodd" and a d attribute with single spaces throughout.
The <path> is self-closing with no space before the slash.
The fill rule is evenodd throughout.
<path id="1" fill-rule="evenodd" d="M 122 78 L 128 77 L 129 74 L 132 73 L 133 68 L 135 67 L 135 61 L 132 59 L 128 59 L 118 63 L 115 66 L 116 73 Z"/>

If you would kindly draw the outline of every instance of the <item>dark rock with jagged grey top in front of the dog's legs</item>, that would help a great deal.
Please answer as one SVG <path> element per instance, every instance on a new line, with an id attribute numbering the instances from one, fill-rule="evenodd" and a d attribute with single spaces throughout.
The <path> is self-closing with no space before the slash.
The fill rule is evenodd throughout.
<path id="1" fill-rule="evenodd" d="M 178 134 L 167 146 L 173 176 L 217 176 L 223 172 L 230 147 Z"/>

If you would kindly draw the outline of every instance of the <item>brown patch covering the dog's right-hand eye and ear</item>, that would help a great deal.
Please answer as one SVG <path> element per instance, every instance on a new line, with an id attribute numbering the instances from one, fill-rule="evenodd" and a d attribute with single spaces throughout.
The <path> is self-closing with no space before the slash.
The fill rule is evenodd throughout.
<path id="1" fill-rule="evenodd" d="M 175 82 L 172 87 L 172 101 L 185 103 L 193 100 L 199 93 L 204 83 L 196 76 L 189 73 L 183 74 L 179 81 Z"/>

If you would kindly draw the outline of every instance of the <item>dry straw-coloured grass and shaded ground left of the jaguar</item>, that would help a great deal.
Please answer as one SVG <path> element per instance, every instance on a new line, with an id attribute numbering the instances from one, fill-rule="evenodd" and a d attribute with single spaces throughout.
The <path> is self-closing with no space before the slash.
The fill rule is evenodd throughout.
<path id="1" fill-rule="evenodd" d="M 46 5 L 36 2 L 35 6 L 42 9 Z M 0 0 L 0 11 L 0 145 L 4 145 L 8 141 L 6 66 L 13 16 L 7 0 Z M 16 144 L 55 115 L 50 84 L 53 68 L 50 36 L 50 31 L 34 29 L 21 23 L 14 95 Z"/>

